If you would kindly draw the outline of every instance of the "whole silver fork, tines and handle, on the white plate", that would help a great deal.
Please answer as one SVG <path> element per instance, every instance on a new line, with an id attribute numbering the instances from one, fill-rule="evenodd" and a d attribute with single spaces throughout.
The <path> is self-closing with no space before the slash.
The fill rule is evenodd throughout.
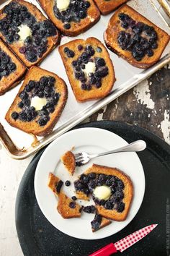
<path id="1" fill-rule="evenodd" d="M 76 153 L 74 154 L 76 160 L 76 166 L 83 166 L 84 164 L 88 163 L 92 158 L 97 158 L 98 156 L 102 155 L 109 155 L 112 153 L 119 153 L 119 152 L 138 152 L 142 151 L 146 148 L 146 142 L 144 140 L 136 140 L 122 148 L 117 148 L 115 150 L 110 150 L 103 153 L 98 154 L 89 154 L 86 152 Z"/>

